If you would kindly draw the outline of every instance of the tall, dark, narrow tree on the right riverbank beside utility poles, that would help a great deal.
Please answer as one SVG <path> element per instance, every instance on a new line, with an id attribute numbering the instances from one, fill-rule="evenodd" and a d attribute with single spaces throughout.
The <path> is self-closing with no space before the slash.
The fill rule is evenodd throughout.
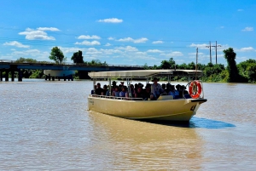
<path id="1" fill-rule="evenodd" d="M 233 48 L 225 49 L 224 51 L 224 58 L 228 62 L 227 70 L 229 71 L 229 83 L 235 83 L 238 81 L 238 70 L 236 67 L 236 53 L 234 52 Z"/>

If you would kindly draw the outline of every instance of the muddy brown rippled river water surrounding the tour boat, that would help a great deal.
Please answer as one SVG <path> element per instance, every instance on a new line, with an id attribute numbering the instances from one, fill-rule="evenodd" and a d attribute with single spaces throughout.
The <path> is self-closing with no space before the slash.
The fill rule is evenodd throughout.
<path id="1" fill-rule="evenodd" d="M 91 88 L 0 82 L 0 170 L 256 169 L 255 84 L 204 83 L 188 125 L 86 111 Z"/>

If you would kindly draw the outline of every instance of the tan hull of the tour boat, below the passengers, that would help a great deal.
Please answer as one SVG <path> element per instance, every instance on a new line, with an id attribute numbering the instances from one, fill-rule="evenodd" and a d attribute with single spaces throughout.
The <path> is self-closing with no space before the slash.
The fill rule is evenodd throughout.
<path id="1" fill-rule="evenodd" d="M 89 111 L 129 119 L 154 119 L 188 122 L 205 99 L 116 100 L 88 97 Z"/>

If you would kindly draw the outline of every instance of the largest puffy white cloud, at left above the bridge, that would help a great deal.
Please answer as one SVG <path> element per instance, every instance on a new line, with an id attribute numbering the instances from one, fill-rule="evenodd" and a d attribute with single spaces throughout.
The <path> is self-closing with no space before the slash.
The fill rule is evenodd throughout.
<path id="1" fill-rule="evenodd" d="M 19 32 L 19 35 L 26 35 L 27 40 L 55 40 L 55 37 L 48 36 L 45 31 L 57 30 L 54 27 L 39 27 L 37 30 L 26 28 L 26 31 Z"/>

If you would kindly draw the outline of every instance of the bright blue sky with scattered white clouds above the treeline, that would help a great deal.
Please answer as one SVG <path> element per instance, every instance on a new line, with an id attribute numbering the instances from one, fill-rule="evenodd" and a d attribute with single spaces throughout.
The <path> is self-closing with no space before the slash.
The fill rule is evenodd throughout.
<path id="1" fill-rule="evenodd" d="M 113 65 L 160 65 L 210 61 L 210 41 L 218 63 L 234 48 L 236 63 L 256 60 L 254 0 L 2 0 L 0 60 L 20 57 L 50 61 L 61 48 L 67 62 L 83 51 L 85 61 Z M 215 48 L 212 47 L 212 63 Z"/>

